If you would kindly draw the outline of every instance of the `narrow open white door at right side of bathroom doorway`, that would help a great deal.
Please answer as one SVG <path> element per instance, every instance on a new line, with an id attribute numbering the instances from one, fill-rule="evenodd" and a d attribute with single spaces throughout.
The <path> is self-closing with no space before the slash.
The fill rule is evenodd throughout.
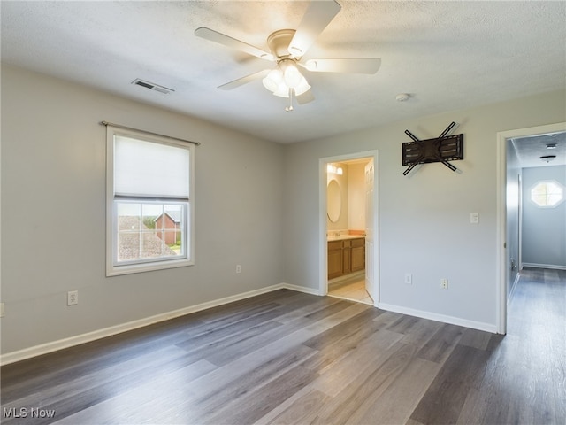
<path id="1" fill-rule="evenodd" d="M 378 290 L 375 282 L 374 264 L 374 211 L 373 211 L 373 158 L 365 166 L 365 290 L 368 291 L 373 302 L 376 303 Z"/>

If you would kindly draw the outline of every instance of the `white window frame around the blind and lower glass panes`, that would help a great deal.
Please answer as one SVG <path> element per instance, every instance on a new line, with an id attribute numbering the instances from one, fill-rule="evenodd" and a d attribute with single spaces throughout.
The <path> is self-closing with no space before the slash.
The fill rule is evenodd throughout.
<path id="1" fill-rule="evenodd" d="M 188 199 L 171 197 L 116 196 L 114 193 L 115 151 L 114 137 L 129 137 L 142 142 L 164 144 L 188 151 Z M 180 204 L 186 203 L 185 228 L 182 229 L 185 241 L 185 254 L 181 258 L 157 257 L 156 259 L 138 259 L 118 262 L 118 204 Z M 166 136 L 148 134 L 141 130 L 106 126 L 106 276 L 134 274 L 176 267 L 195 265 L 195 146 Z"/>

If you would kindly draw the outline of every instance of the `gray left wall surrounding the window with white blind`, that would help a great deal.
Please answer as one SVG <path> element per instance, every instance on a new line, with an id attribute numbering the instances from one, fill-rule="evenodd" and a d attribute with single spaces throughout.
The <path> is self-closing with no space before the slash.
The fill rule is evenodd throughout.
<path id="1" fill-rule="evenodd" d="M 195 149 L 194 267 L 105 277 L 101 120 L 203 143 Z M 201 120 L 3 67 L 2 352 L 283 282 L 282 151 Z M 79 290 L 79 305 L 67 307 L 68 290 Z"/>

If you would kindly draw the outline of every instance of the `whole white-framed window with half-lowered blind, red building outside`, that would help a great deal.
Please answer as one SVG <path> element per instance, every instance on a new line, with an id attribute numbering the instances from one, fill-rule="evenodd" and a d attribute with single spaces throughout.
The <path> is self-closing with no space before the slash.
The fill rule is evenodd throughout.
<path id="1" fill-rule="evenodd" d="M 106 274 L 193 264 L 189 143 L 107 126 Z"/>

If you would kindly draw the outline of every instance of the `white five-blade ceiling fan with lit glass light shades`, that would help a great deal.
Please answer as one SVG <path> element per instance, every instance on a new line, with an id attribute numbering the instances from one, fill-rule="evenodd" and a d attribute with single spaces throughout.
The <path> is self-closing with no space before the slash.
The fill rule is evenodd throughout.
<path id="1" fill-rule="evenodd" d="M 340 4 L 334 0 L 312 0 L 302 21 L 294 29 L 279 29 L 267 37 L 267 45 L 271 52 L 259 49 L 247 42 L 241 42 L 229 35 L 218 33 L 207 27 L 195 29 L 195 35 L 211 42 L 218 42 L 227 47 L 241 50 L 256 58 L 275 62 L 272 69 L 264 69 L 251 73 L 237 80 L 227 82 L 218 89 L 231 90 L 250 81 L 262 79 L 264 87 L 273 95 L 287 98 L 286 111 L 293 111 L 293 97 L 299 104 L 306 104 L 314 97 L 310 84 L 302 75 L 299 67 L 315 73 L 377 73 L 381 65 L 379 58 L 332 58 L 309 59 L 303 57 L 318 35 L 340 12 Z"/>

